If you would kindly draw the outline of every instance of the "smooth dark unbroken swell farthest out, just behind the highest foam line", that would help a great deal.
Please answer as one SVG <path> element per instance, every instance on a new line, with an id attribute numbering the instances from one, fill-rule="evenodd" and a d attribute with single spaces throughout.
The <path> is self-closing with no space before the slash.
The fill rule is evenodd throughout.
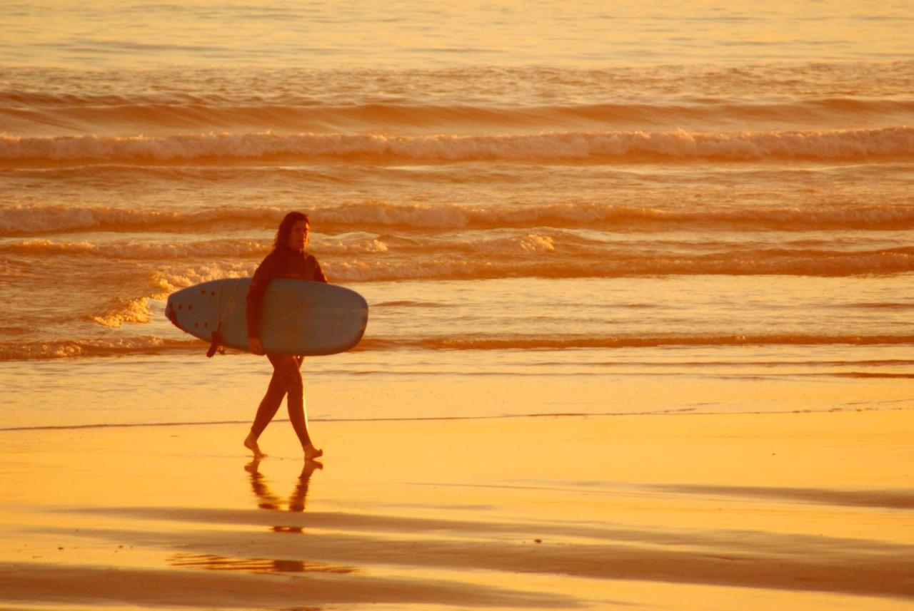
<path id="1" fill-rule="evenodd" d="M 662 98 L 661 98 L 662 99 Z M 590 126 L 706 126 L 728 124 L 837 124 L 848 117 L 905 119 L 914 101 L 881 98 L 807 98 L 781 102 L 726 99 L 665 100 L 655 103 L 497 104 L 368 102 L 318 103 L 314 98 L 226 98 L 186 93 L 112 95 L 0 90 L 0 118 L 7 129 L 28 133 L 53 125 L 59 130 L 111 132 L 160 129 L 282 129 L 343 133 L 370 130 L 580 129 Z M 59 132 L 58 132 L 59 133 Z"/>

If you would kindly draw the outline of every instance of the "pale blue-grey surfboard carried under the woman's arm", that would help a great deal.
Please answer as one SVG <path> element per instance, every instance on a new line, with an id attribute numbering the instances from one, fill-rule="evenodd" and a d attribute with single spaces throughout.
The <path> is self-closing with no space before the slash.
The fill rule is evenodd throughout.
<path id="1" fill-rule="evenodd" d="M 179 329 L 216 345 L 248 350 L 250 278 L 188 286 L 168 296 L 165 316 Z M 260 310 L 260 343 L 267 354 L 330 355 L 356 346 L 368 324 L 365 298 L 323 282 L 275 278 Z M 218 333 L 214 340 L 213 333 Z"/>

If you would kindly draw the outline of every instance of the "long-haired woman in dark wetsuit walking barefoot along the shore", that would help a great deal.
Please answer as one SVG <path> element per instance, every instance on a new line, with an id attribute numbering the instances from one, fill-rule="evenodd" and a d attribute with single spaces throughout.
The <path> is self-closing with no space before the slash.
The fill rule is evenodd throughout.
<path id="1" fill-rule="evenodd" d="M 302 212 L 286 214 L 280 223 L 279 231 L 276 232 L 272 252 L 254 272 L 254 278 L 248 290 L 248 345 L 250 351 L 256 355 L 264 354 L 263 346 L 260 344 L 260 305 L 270 281 L 273 278 L 327 281 L 317 259 L 304 252 L 310 229 L 311 223 L 307 214 Z M 304 413 L 304 386 L 301 371 L 303 357 L 268 354 L 267 358 L 270 359 L 273 366 L 273 377 L 270 379 L 267 393 L 260 401 L 260 407 L 257 409 L 254 423 L 250 426 L 250 434 L 244 440 L 244 446 L 254 452 L 255 459 L 266 456 L 260 451 L 257 440 L 260 438 L 260 433 L 267 428 L 270 420 L 276 415 L 276 411 L 280 409 L 282 398 L 288 395 L 287 404 L 292 428 L 298 435 L 299 441 L 302 442 L 305 460 L 313 461 L 323 455 L 324 450 L 315 448 L 308 435 L 308 418 Z"/>

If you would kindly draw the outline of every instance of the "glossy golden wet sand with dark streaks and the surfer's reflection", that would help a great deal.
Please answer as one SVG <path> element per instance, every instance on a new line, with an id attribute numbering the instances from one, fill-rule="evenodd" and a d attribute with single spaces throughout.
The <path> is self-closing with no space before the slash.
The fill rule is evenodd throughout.
<path id="1" fill-rule="evenodd" d="M 0 608 L 914 608 L 910 411 L 7 431 Z"/>

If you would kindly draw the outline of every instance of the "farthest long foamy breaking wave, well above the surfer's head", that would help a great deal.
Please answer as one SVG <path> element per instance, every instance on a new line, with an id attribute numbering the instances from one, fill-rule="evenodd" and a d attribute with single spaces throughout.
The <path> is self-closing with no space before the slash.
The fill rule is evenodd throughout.
<path id="1" fill-rule="evenodd" d="M 368 161 L 866 161 L 914 158 L 914 128 L 742 133 L 569 131 L 516 135 L 391 136 L 191 133 L 115 137 L 0 136 L 8 162 L 208 160 Z"/>

